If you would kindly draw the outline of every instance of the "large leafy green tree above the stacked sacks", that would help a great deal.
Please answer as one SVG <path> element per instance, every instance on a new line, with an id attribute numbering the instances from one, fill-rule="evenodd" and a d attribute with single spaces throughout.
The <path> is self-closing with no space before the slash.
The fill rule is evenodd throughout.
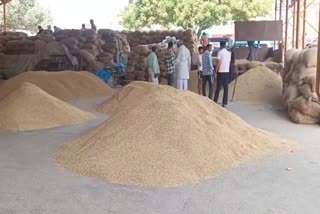
<path id="1" fill-rule="evenodd" d="M 246 21 L 270 14 L 273 0 L 137 0 L 122 14 L 127 29 L 160 25 L 202 31 L 230 20 Z"/>

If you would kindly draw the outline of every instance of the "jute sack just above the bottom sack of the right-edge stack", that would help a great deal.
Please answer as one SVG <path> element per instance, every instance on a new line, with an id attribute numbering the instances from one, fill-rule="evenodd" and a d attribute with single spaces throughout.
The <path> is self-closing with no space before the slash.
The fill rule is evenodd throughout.
<path id="1" fill-rule="evenodd" d="M 320 120 L 320 104 L 316 102 L 309 102 L 304 97 L 298 97 L 289 104 L 289 110 L 297 109 L 301 113 Z"/>

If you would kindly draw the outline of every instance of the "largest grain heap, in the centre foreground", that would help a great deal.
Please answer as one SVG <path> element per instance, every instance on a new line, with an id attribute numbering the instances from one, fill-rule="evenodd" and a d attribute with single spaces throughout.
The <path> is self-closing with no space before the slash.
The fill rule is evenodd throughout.
<path id="1" fill-rule="evenodd" d="M 109 121 L 60 148 L 61 166 L 111 183 L 178 186 L 290 147 L 207 98 L 168 86 L 134 82 L 110 105 Z"/>

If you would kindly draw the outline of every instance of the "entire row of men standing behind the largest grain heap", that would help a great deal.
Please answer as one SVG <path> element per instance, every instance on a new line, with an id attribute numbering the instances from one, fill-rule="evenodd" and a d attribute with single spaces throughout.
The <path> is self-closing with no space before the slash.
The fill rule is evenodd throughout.
<path id="1" fill-rule="evenodd" d="M 226 49 L 226 42 L 220 42 L 220 50 L 218 52 L 218 63 L 213 65 L 212 60 L 212 45 L 204 40 L 199 47 L 198 55 L 198 92 L 206 96 L 207 84 L 209 84 L 209 98 L 214 102 L 218 102 L 221 88 L 223 87 L 223 101 L 222 106 L 228 105 L 228 85 L 230 82 L 230 66 L 231 53 Z M 156 55 L 157 48 L 152 47 L 152 52 L 147 58 L 147 66 L 149 73 L 149 81 L 159 84 L 160 68 L 158 58 Z M 168 85 L 174 86 L 174 79 L 176 75 L 177 88 L 179 90 L 188 90 L 188 80 L 191 72 L 191 54 L 190 51 L 183 45 L 182 41 L 178 42 L 178 50 L 175 54 L 173 43 L 168 43 L 168 49 L 165 52 L 164 63 L 167 69 Z M 217 82 L 216 91 L 213 97 L 214 82 Z M 202 93 L 201 93 L 202 87 Z"/>

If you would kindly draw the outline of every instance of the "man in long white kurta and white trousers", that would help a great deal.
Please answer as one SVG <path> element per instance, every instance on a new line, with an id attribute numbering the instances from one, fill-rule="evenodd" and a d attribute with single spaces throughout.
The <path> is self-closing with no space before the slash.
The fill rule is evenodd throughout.
<path id="1" fill-rule="evenodd" d="M 186 91 L 188 90 L 188 80 L 191 71 L 191 54 L 181 40 L 178 42 L 178 53 L 175 63 L 177 70 L 177 88 Z"/>

